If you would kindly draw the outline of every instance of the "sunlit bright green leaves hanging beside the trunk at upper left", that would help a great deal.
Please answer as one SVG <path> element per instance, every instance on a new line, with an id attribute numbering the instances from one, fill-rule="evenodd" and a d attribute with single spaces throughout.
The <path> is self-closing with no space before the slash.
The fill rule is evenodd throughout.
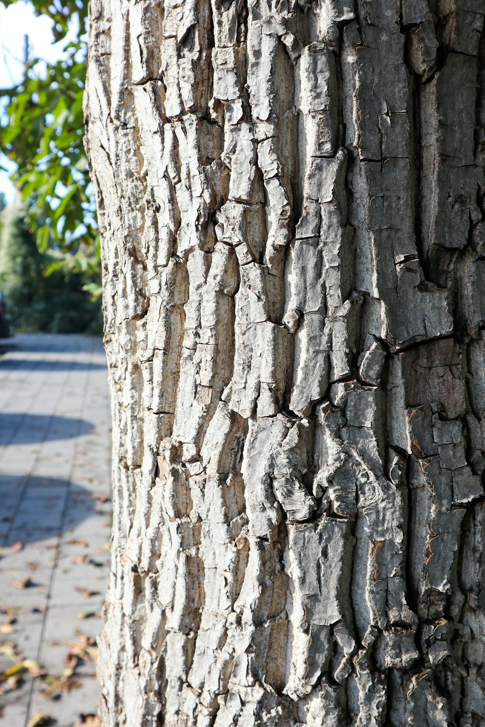
<path id="1" fill-rule="evenodd" d="M 4 5 L 15 2 L 0 1 Z M 87 0 L 32 2 L 37 15 L 54 21 L 55 40 L 63 39 L 72 23 L 77 24 L 77 37 L 65 47 L 63 60 L 47 64 L 45 78 L 36 73 L 39 59 L 33 59 L 23 83 L 4 89 L 3 94 L 9 97 L 9 123 L 1 129 L 2 147 L 17 164 L 12 180 L 28 202 L 39 249 L 57 251 L 48 274 L 66 267 L 71 272 L 97 275 L 97 284 L 91 289 L 98 293 L 99 238 L 82 143 Z"/>

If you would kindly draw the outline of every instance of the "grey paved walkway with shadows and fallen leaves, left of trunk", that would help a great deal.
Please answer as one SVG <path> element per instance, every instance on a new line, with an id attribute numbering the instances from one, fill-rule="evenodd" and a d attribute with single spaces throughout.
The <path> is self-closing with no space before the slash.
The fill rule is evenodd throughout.
<path id="1" fill-rule="evenodd" d="M 26 727 L 38 712 L 71 727 L 97 710 L 90 637 L 101 629 L 108 579 L 109 430 L 101 342 L 33 334 L 7 341 L 0 355 L 0 727 Z M 36 676 L 25 659 L 45 673 Z M 7 678 L 15 664 L 20 670 Z"/>

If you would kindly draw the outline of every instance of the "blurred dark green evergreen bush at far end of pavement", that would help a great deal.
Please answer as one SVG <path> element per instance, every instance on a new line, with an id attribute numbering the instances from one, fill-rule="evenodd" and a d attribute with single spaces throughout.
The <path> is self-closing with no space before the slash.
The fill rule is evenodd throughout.
<path id="1" fill-rule="evenodd" d="M 84 291 L 92 283 L 67 268 L 49 277 L 43 270 L 55 260 L 41 252 L 29 227 L 23 206 L 9 206 L 2 213 L 0 238 L 0 289 L 7 316 L 17 331 L 98 334 L 102 329 L 99 302 Z"/>

